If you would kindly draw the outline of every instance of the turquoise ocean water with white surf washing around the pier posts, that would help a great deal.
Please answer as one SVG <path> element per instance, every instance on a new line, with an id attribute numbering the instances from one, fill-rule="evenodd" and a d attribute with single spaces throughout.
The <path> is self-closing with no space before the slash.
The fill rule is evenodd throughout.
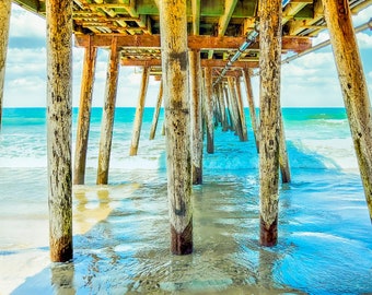
<path id="1" fill-rule="evenodd" d="M 93 109 L 84 186 L 73 187 L 70 263 L 49 263 L 44 108 L 5 108 L 0 131 L 0 294 L 371 294 L 372 225 L 342 108 L 283 109 L 291 184 L 279 243 L 258 244 L 258 156 L 217 128 L 195 186 L 193 255 L 170 253 L 163 113 L 115 115 L 109 185 L 96 186 L 102 110 Z M 246 110 L 248 116 L 248 111 Z M 249 119 L 247 119 L 249 121 Z M 73 117 L 73 137 L 77 128 Z M 74 151 L 74 146 L 72 149 Z"/>

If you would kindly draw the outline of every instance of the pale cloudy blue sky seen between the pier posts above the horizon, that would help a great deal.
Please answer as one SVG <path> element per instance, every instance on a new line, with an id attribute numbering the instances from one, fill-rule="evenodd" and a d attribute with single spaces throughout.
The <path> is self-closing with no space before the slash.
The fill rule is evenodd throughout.
<path id="1" fill-rule="evenodd" d="M 372 5 L 353 16 L 360 25 L 372 17 Z M 46 24 L 36 14 L 12 4 L 7 55 L 4 107 L 46 106 Z M 357 35 L 363 69 L 372 102 L 372 30 Z M 327 32 L 313 39 L 313 45 L 328 39 Z M 79 106 L 83 48 L 73 47 L 72 104 Z M 284 58 L 284 57 L 283 57 Z M 100 49 L 96 62 L 93 106 L 104 102 L 108 52 Z M 136 106 L 141 80 L 140 68 L 120 67 L 116 98 L 118 107 Z M 259 105 L 258 78 L 253 78 L 254 99 Z M 150 78 L 147 107 L 155 105 L 160 82 Z M 243 92 L 244 97 L 245 94 Z M 247 105 L 246 99 L 244 99 Z M 332 47 L 305 55 L 281 68 L 281 105 L 283 107 L 342 107 L 338 75 Z"/>

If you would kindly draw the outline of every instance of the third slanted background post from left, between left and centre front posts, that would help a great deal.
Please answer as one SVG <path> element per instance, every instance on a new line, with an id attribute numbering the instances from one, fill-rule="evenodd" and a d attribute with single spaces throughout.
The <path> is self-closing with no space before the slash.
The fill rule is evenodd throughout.
<path id="1" fill-rule="evenodd" d="M 139 139 L 141 135 L 142 118 L 143 118 L 146 95 L 147 95 L 148 85 L 149 85 L 149 76 L 150 76 L 150 68 L 143 67 L 140 94 L 138 97 L 138 104 L 136 108 L 133 133 L 131 135 L 131 144 L 130 144 L 130 151 L 129 151 L 130 156 L 137 155 L 137 152 L 138 152 L 138 143 L 139 143 Z"/>

